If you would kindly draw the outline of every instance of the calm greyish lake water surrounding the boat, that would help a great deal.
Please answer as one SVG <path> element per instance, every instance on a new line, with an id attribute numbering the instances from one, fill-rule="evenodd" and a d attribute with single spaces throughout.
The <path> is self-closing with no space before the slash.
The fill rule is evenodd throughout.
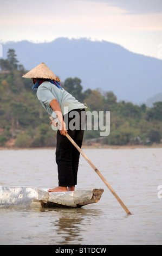
<path id="1" fill-rule="evenodd" d="M 0 245 L 162 245 L 162 148 L 83 149 L 78 185 L 104 188 L 81 209 L 1 209 Z M 57 186 L 55 149 L 0 150 L 0 185 Z M 161 186 L 161 187 L 160 187 Z"/>

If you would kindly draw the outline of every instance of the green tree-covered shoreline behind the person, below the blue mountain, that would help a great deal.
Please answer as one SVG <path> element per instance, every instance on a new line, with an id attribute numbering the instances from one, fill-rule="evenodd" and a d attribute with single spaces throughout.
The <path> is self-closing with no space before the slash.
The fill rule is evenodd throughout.
<path id="1" fill-rule="evenodd" d="M 0 146 L 17 148 L 55 147 L 56 132 L 51 130 L 46 111 L 37 100 L 30 79 L 22 78 L 27 72 L 18 64 L 14 49 L 7 59 L 0 60 Z M 85 131 L 85 142 L 94 139 L 108 145 L 160 143 L 162 138 L 162 102 L 152 108 L 117 101 L 113 92 L 100 88 L 83 91 L 80 78 L 67 78 L 61 85 L 89 111 L 110 111 L 110 134 L 100 138 L 100 131 Z"/>

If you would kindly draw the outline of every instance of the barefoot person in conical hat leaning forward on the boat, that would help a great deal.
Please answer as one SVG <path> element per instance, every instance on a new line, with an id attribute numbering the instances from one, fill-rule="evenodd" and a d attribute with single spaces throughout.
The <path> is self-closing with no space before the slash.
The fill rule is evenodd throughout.
<path id="1" fill-rule="evenodd" d="M 54 118 L 51 122 L 53 129 L 54 126 L 59 127 L 56 145 L 59 186 L 48 191 L 74 191 L 77 184 L 80 153 L 65 135 L 68 132 L 69 136 L 81 147 L 87 106 L 66 92 L 60 85 L 60 79 L 44 63 L 36 66 L 23 77 L 32 78 L 34 84 L 32 89 L 37 90 L 38 100 L 48 114 Z"/>

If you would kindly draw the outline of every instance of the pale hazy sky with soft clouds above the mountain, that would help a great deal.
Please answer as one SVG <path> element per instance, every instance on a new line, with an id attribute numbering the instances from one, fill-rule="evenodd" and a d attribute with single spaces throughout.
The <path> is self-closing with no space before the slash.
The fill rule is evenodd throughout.
<path id="1" fill-rule="evenodd" d="M 162 59 L 162 0 L 0 0 L 0 41 L 105 40 Z"/>

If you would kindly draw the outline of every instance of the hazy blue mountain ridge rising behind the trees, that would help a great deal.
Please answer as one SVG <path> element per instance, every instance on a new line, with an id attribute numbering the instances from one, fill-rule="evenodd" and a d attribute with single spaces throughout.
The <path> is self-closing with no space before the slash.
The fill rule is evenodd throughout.
<path id="1" fill-rule="evenodd" d="M 7 42 L 3 58 L 14 48 L 17 59 L 30 70 L 46 63 L 63 82 L 79 77 L 83 90 L 112 90 L 119 100 L 143 103 L 162 92 L 162 60 L 133 53 L 107 41 L 58 38 L 52 42 Z"/>

